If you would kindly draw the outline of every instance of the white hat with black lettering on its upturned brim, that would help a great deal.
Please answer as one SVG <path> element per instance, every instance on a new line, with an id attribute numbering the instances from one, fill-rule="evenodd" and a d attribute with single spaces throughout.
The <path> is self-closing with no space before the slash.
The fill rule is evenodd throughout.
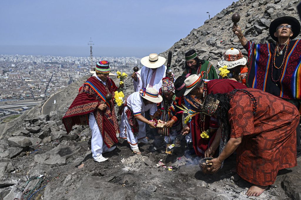
<path id="1" fill-rule="evenodd" d="M 224 59 L 217 63 L 220 67 L 227 66 L 227 69 L 236 67 L 237 65 L 246 65 L 247 59 L 238 49 L 228 49 L 224 54 Z"/>

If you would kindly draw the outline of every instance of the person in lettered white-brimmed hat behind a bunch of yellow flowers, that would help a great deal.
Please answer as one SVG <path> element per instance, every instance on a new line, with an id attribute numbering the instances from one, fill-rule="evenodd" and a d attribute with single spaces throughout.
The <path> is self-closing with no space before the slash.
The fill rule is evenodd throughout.
<path id="1" fill-rule="evenodd" d="M 224 58 L 217 63 L 221 68 L 220 76 L 222 78 L 230 78 L 240 83 L 246 84 L 247 77 L 247 59 L 242 55 L 238 49 L 228 49 L 224 54 Z M 223 69 L 223 67 L 227 67 Z M 224 70 L 228 70 L 228 74 L 222 73 Z"/>

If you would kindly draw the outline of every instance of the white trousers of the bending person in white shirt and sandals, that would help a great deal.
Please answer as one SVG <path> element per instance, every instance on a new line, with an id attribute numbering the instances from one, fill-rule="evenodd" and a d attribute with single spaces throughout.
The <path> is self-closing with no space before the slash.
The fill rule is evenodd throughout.
<path id="1" fill-rule="evenodd" d="M 129 109 L 129 107 L 125 107 L 123 109 L 122 115 L 121 115 L 121 121 L 120 121 L 120 126 L 119 126 L 119 138 L 126 138 L 128 143 L 131 146 L 132 150 L 138 149 L 138 139 L 145 138 L 146 132 L 145 132 L 145 123 L 138 121 L 139 124 L 139 133 L 138 136 L 135 137 L 131 126 L 129 124 L 128 118 L 126 116 L 126 110 Z M 142 116 L 144 116 L 144 113 L 141 113 Z"/>

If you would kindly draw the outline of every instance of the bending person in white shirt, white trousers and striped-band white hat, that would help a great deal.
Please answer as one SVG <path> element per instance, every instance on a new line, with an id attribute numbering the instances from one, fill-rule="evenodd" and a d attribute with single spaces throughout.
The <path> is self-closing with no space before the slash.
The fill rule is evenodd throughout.
<path id="1" fill-rule="evenodd" d="M 119 126 L 120 135 L 126 135 L 133 153 L 141 154 L 138 148 L 139 135 L 145 136 L 145 124 L 156 128 L 155 122 L 150 122 L 144 116 L 145 111 L 150 111 L 151 119 L 157 111 L 157 103 L 162 102 L 162 97 L 154 88 L 141 89 L 139 92 L 130 94 L 123 104 L 121 122 Z"/>

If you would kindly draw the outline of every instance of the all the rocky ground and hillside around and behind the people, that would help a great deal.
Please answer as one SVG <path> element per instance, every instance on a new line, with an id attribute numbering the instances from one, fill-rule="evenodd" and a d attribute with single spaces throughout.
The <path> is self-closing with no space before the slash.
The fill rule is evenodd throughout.
<path id="1" fill-rule="evenodd" d="M 241 0 L 225 8 L 203 26 L 176 42 L 173 71 L 182 73 L 184 54 L 190 48 L 214 65 L 230 47 L 241 48 L 231 32 L 231 15 L 241 15 L 240 26 L 255 42 L 270 41 L 268 24 L 288 14 L 296 15 L 293 0 Z M 161 53 L 166 56 L 167 52 Z M 243 50 L 244 53 L 246 53 Z M 39 105 L 0 125 L 0 199 L 299 199 L 298 167 L 279 171 L 277 180 L 259 197 L 247 197 L 250 183 L 231 172 L 235 155 L 216 175 L 205 175 L 198 166 L 200 158 L 181 147 L 165 153 L 163 138 L 148 135 L 149 144 L 139 144 L 141 155 L 134 155 L 127 141 L 119 139 L 116 150 L 104 154 L 108 162 L 92 158 L 91 131 L 74 126 L 67 134 L 61 118 L 88 77 L 71 84 L 56 96 L 50 115 L 39 115 Z M 114 78 L 114 81 L 119 81 Z M 131 78 L 125 81 L 125 94 L 133 92 Z"/>

